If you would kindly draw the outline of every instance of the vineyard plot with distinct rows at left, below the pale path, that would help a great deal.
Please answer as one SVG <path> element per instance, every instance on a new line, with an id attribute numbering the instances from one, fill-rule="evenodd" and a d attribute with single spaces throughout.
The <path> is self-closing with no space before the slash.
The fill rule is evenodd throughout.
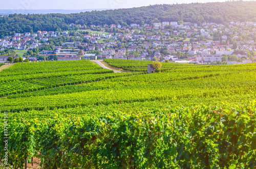
<path id="1" fill-rule="evenodd" d="M 65 85 L 89 83 L 113 76 L 90 61 L 16 63 L 0 74 L 0 95 L 7 96 Z M 95 75 L 96 74 L 96 75 Z"/>

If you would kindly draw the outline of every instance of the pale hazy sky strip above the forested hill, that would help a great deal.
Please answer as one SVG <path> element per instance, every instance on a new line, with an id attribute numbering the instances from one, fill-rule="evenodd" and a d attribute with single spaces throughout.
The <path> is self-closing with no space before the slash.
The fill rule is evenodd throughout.
<path id="1" fill-rule="evenodd" d="M 0 9 L 116 9 L 154 4 L 224 2 L 225 0 L 1 0 Z"/>

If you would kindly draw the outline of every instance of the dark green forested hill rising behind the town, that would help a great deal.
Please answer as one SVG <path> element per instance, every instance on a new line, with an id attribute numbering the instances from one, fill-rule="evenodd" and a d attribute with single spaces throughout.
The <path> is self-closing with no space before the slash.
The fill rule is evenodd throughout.
<path id="1" fill-rule="evenodd" d="M 64 23 L 97 25 L 106 23 L 125 26 L 126 23 L 153 23 L 158 21 L 256 21 L 256 2 L 194 3 L 153 5 L 140 8 L 81 12 L 76 14 L 11 14 L 0 17 L 0 34 L 7 35 L 31 30 L 56 31 L 68 29 Z"/>

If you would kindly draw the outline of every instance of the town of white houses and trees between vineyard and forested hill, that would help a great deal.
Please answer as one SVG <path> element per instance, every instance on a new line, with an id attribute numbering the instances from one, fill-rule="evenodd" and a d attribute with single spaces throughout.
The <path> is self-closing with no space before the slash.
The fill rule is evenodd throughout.
<path id="1" fill-rule="evenodd" d="M 256 61 L 256 22 L 165 21 L 125 26 L 70 23 L 68 26 L 65 31 L 38 30 L 2 35 L 0 55 L 16 51 L 12 52 L 13 59 L 28 58 L 30 62 L 127 59 L 242 64 Z M 19 55 L 17 51 L 24 52 Z M 0 62 L 8 62 L 8 57 L 0 56 Z"/>

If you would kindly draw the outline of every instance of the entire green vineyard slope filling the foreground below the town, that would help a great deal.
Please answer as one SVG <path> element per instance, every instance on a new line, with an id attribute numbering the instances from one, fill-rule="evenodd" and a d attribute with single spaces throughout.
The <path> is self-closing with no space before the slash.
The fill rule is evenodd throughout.
<path id="1" fill-rule="evenodd" d="M 8 116 L 6 166 L 37 158 L 42 168 L 255 168 L 256 64 L 163 68 L 118 74 L 55 61 L 1 71 L 1 158 Z"/>

